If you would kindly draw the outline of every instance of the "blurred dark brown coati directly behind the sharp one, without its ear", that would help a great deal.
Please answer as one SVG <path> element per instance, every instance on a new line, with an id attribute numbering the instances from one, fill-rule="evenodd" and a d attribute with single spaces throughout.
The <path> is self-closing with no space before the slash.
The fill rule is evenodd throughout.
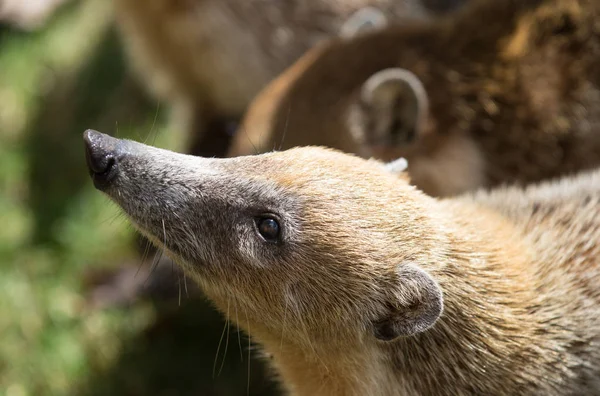
<path id="1" fill-rule="evenodd" d="M 229 154 L 314 144 L 404 156 L 432 195 L 587 169 L 600 163 L 599 21 L 592 0 L 484 0 L 322 44 L 258 95 Z M 379 143 L 385 115 L 359 98 L 388 68 L 410 70 L 426 91 L 407 142 Z"/>

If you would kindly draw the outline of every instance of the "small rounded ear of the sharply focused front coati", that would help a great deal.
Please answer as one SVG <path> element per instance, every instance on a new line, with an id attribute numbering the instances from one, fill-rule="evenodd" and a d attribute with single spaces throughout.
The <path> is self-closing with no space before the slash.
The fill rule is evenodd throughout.
<path id="1" fill-rule="evenodd" d="M 443 310 L 444 298 L 437 282 L 414 265 L 402 265 L 388 312 L 373 323 L 375 337 L 391 341 L 422 333 L 435 324 Z"/>

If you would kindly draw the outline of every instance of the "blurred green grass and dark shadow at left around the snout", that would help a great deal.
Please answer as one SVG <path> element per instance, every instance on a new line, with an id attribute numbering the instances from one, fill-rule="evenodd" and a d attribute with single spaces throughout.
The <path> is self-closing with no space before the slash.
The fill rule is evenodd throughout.
<path id="1" fill-rule="evenodd" d="M 155 252 L 141 263 L 94 190 L 82 133 L 182 139 L 130 75 L 111 2 L 24 3 L 0 1 L 0 395 L 274 394 L 246 336 L 170 264 L 164 295 L 129 285 Z"/>

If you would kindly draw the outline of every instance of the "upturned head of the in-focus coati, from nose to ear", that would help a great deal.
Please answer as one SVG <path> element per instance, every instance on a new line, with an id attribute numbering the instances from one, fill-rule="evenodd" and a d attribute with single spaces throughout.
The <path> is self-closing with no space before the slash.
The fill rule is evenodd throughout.
<path id="1" fill-rule="evenodd" d="M 259 340 L 285 326 L 306 336 L 286 343 L 342 348 L 423 332 L 442 313 L 430 198 L 402 160 L 317 147 L 211 159 L 84 139 L 95 186 Z"/>

